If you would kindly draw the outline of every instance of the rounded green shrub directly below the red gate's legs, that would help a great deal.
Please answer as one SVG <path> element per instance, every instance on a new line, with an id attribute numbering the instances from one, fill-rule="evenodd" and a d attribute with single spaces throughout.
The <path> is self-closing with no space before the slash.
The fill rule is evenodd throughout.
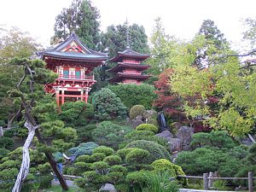
<path id="1" fill-rule="evenodd" d="M 67 125 L 86 125 L 93 117 L 94 108 L 90 103 L 65 102 L 61 106 L 60 118 Z"/>

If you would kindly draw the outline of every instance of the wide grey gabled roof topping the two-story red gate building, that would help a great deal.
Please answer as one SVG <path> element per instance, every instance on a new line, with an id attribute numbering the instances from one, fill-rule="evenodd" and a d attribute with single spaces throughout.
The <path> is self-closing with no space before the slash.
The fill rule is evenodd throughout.
<path id="1" fill-rule="evenodd" d="M 61 44 L 51 49 L 45 49 L 39 55 L 41 55 L 42 59 L 47 56 L 56 59 L 83 61 L 106 61 L 108 59 L 107 54 L 87 48 L 74 32 L 65 41 L 61 42 Z"/>

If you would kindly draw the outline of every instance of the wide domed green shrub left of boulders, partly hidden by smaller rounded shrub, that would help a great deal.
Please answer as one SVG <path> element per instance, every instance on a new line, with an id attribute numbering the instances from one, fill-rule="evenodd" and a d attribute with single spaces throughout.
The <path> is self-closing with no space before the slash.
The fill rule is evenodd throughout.
<path id="1" fill-rule="evenodd" d="M 171 160 L 171 155 L 169 152 L 158 143 L 145 141 L 145 140 L 137 140 L 129 143 L 125 148 L 142 148 L 149 152 L 148 158 L 145 160 L 145 163 L 151 163 L 154 160 L 159 159 L 167 159 Z"/>

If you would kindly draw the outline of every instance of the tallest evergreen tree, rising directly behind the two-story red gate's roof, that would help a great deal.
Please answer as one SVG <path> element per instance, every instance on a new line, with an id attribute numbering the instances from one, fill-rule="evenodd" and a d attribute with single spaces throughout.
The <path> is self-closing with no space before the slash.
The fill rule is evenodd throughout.
<path id="1" fill-rule="evenodd" d="M 99 49 L 100 43 L 100 14 L 90 0 L 73 0 L 69 8 L 62 9 L 55 19 L 55 35 L 52 43 L 60 38 L 67 38 L 71 32 L 76 32 L 81 41 L 90 49 Z"/>

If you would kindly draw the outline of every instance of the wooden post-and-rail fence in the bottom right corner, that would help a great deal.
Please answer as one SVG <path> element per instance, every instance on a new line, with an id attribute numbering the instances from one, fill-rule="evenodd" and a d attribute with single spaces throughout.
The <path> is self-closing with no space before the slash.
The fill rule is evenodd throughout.
<path id="1" fill-rule="evenodd" d="M 208 173 L 204 173 L 203 177 L 201 176 L 181 176 L 178 175 L 177 177 L 183 177 L 183 178 L 201 178 L 203 179 L 203 187 L 204 190 L 208 190 L 212 188 L 212 181 L 213 180 L 248 180 L 248 191 L 253 192 L 253 179 L 256 179 L 256 177 L 253 177 L 253 172 L 248 172 L 248 177 L 209 177 Z"/>

